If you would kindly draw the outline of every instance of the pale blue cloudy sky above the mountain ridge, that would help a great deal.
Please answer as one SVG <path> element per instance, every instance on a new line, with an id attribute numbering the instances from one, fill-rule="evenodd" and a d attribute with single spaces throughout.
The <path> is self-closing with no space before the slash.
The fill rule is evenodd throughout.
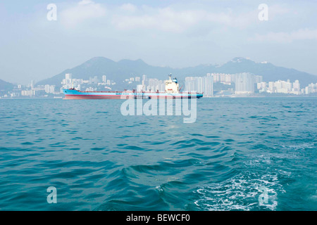
<path id="1" fill-rule="evenodd" d="M 172 68 L 244 57 L 317 75 L 316 12 L 308 0 L 2 0 L 0 79 L 30 84 L 97 56 Z"/>

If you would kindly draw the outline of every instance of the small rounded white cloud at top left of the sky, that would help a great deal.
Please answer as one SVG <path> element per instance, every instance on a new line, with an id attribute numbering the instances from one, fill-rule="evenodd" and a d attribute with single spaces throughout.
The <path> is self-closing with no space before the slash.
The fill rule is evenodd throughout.
<path id="1" fill-rule="evenodd" d="M 101 18 L 106 15 L 106 8 L 91 0 L 82 0 L 75 6 L 61 12 L 61 21 L 66 26 L 75 26 L 85 20 Z"/>

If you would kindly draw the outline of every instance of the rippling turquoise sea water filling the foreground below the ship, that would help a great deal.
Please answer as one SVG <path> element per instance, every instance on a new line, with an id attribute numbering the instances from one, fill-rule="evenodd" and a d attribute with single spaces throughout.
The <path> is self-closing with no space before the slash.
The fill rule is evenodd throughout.
<path id="1" fill-rule="evenodd" d="M 121 103 L 1 100 L 0 210 L 317 210 L 317 98 L 202 98 L 192 124 Z"/>

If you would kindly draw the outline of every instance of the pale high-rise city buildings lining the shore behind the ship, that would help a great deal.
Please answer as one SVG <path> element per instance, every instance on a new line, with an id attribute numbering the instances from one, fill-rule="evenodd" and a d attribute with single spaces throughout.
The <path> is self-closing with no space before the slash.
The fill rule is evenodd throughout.
<path id="1" fill-rule="evenodd" d="M 177 82 L 176 77 L 173 78 Z M 126 84 L 132 84 L 132 89 L 124 89 L 137 92 L 166 92 L 166 80 L 147 77 L 147 75 L 130 77 L 122 81 Z M 223 84 L 223 86 L 214 91 L 215 84 Z M 17 98 L 17 97 L 49 97 L 61 98 L 63 89 L 75 89 L 78 91 L 113 91 L 113 85 L 116 82 L 106 79 L 106 75 L 101 77 L 94 76 L 89 79 L 76 79 L 70 73 L 65 74 L 65 79 L 61 81 L 61 87 L 44 84 L 36 85 L 32 80 L 27 86 L 18 84 L 12 91 L 0 95 L 0 98 Z M 233 85 L 233 86 L 232 86 Z M 192 91 L 203 94 L 204 97 L 228 97 L 228 96 L 256 96 L 257 94 L 293 94 L 293 95 L 309 95 L 317 93 L 317 83 L 311 83 L 301 87 L 299 80 L 290 82 L 278 80 L 263 82 L 263 77 L 254 75 L 250 72 L 242 72 L 235 74 L 224 73 L 207 73 L 203 77 L 185 77 L 185 83 L 178 87 L 178 91 L 185 90 L 185 93 Z M 56 96 L 57 95 L 57 96 Z"/>

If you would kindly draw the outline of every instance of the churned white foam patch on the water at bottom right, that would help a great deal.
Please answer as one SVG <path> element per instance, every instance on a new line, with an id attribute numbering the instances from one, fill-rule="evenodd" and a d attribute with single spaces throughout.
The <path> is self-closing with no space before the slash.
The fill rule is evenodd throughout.
<path id="1" fill-rule="evenodd" d="M 284 190 L 278 184 L 278 174 L 243 173 L 228 181 L 204 186 L 194 191 L 199 196 L 194 204 L 201 210 L 276 210 L 278 192 Z M 261 196 L 266 200 L 260 200 Z"/>

